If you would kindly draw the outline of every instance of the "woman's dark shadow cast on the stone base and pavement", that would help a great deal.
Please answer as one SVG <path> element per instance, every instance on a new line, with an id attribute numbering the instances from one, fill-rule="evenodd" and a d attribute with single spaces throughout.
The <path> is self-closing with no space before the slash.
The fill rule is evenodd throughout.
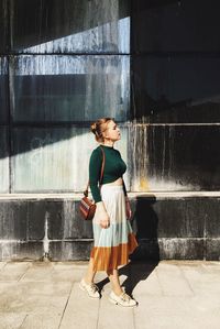
<path id="1" fill-rule="evenodd" d="M 119 268 L 119 275 L 125 275 L 122 283 L 125 292 L 132 296 L 132 292 L 140 281 L 145 281 L 160 262 L 160 248 L 157 241 L 158 218 L 153 208 L 156 202 L 154 195 L 142 195 L 131 201 L 133 217 L 132 228 L 136 234 L 139 246 L 130 255 L 130 263 Z M 101 292 L 109 278 L 105 278 L 97 285 Z"/>

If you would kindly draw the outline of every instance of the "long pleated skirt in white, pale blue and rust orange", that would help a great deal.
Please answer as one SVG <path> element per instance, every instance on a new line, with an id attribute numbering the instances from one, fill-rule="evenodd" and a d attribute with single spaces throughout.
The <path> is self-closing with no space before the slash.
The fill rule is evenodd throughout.
<path id="1" fill-rule="evenodd" d="M 97 213 L 92 220 L 94 271 L 117 270 L 129 263 L 129 254 L 138 246 L 130 220 L 125 213 L 125 197 L 121 185 L 102 185 L 101 197 L 110 218 L 107 229 L 100 227 Z"/>

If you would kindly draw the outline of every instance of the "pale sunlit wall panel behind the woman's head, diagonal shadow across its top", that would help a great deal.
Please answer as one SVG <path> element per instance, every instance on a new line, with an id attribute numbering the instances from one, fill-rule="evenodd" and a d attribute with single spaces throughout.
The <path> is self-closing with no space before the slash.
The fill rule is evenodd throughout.
<path id="1" fill-rule="evenodd" d="M 125 139 L 122 131 L 119 150 L 127 161 Z M 14 129 L 12 190 L 82 191 L 88 183 L 89 156 L 96 146 L 89 128 Z"/>

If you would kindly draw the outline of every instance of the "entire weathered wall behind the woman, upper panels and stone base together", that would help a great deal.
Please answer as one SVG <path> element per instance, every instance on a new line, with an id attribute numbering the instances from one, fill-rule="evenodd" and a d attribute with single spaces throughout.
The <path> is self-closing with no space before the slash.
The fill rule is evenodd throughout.
<path id="1" fill-rule="evenodd" d="M 219 10 L 217 0 L 0 0 L 0 193 L 81 193 L 89 123 L 114 117 L 141 224 L 135 256 L 217 260 Z M 88 256 L 77 197 L 44 198 L 3 197 L 2 259 L 41 259 L 48 241 L 54 260 Z"/>

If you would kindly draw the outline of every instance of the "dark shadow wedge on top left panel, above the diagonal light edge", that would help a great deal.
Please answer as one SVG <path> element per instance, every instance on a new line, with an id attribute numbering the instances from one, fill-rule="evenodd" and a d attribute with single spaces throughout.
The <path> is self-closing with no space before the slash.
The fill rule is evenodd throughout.
<path id="1" fill-rule="evenodd" d="M 13 48 L 25 47 L 62 39 L 73 34 L 88 32 L 97 26 L 112 23 L 129 15 L 125 0 L 13 0 L 10 6 L 13 32 Z M 84 51 L 88 46 L 85 43 Z M 111 45 L 112 46 L 112 45 Z M 74 47 L 77 47 L 75 44 Z M 64 45 L 66 48 L 66 44 Z M 56 48 L 62 52 L 63 48 Z M 76 48 L 75 48 L 76 51 Z M 92 50 L 91 50 L 92 51 Z M 110 51 L 116 51 L 111 48 Z"/>

